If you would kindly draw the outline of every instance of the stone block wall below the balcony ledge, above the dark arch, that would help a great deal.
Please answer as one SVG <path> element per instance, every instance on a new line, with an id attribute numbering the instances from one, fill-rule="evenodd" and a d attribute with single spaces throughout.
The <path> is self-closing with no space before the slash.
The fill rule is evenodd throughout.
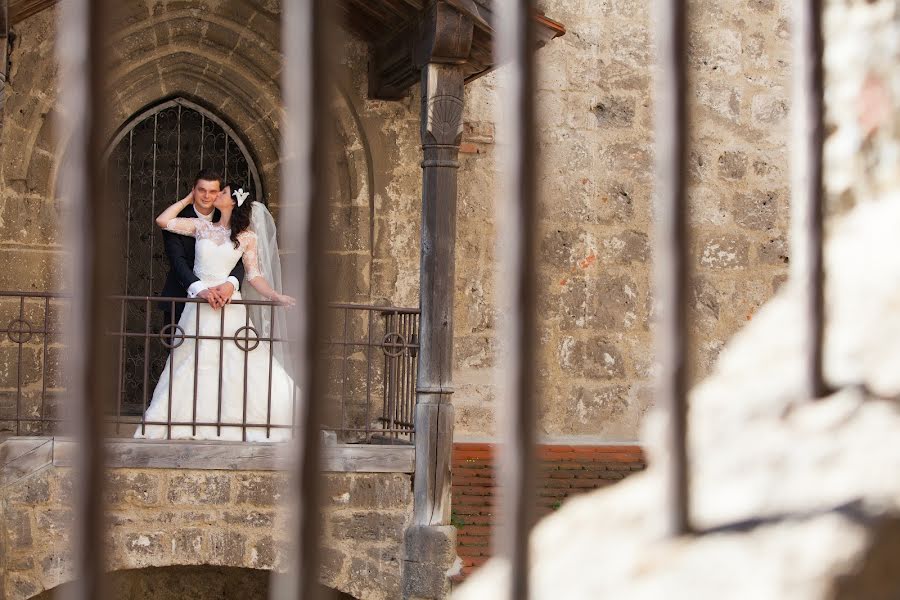
<path id="1" fill-rule="evenodd" d="M 110 469 L 107 568 L 280 571 L 285 483 L 271 471 Z M 325 485 L 321 582 L 354 598 L 400 597 L 411 477 L 330 473 Z M 72 486 L 70 469 L 48 466 L 0 488 L 0 597 L 31 598 L 71 579 Z"/>

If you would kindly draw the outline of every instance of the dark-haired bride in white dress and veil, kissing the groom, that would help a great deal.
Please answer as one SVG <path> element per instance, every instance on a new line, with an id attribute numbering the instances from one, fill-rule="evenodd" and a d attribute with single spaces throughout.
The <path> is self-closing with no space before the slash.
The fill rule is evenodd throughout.
<path id="1" fill-rule="evenodd" d="M 207 287 L 226 281 L 242 260 L 252 288 L 247 296 L 255 291 L 256 298 L 293 306 L 293 298 L 272 287 L 281 283 L 272 215 L 261 203 L 248 202 L 248 195 L 243 190 L 232 195 L 226 186 L 216 197 L 214 206 L 221 218 L 215 223 L 177 216 L 192 201 L 188 195 L 164 210 L 156 224 L 197 239 L 194 274 Z M 235 290 L 232 300 L 240 299 Z M 249 325 L 261 338 L 283 339 L 283 318 L 271 306 L 226 304 L 214 309 L 206 303 L 188 303 L 178 320 L 180 331 L 171 339 L 174 348 L 134 437 L 265 442 L 290 438 L 290 427 L 267 427 L 290 426 L 292 421 L 297 390 L 278 358 L 283 353 L 270 348 L 271 342 L 257 343 L 257 336 L 244 329 Z M 247 347 L 250 350 L 245 352 L 242 348 Z M 246 438 L 242 424 L 254 425 L 245 428 Z"/>

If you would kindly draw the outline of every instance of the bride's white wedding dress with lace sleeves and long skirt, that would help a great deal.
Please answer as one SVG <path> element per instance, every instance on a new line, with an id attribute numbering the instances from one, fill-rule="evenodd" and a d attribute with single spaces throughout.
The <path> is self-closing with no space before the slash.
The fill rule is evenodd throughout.
<path id="1" fill-rule="evenodd" d="M 260 275 L 257 237 L 253 231 L 239 234 L 239 246 L 235 248 L 230 238 L 231 230 L 203 219 L 172 219 L 166 229 L 197 238 L 194 274 L 207 287 L 225 282 L 238 260 L 244 261 L 248 281 Z M 240 292 L 235 290 L 232 300 L 240 299 Z M 269 310 L 268 307 L 264 309 Z M 205 302 L 188 303 L 178 320 L 184 335 L 194 336 L 199 329 L 201 337 L 212 336 L 216 339 L 186 337 L 181 345 L 172 350 L 144 414 L 144 424 L 137 428 L 134 437 L 243 440 L 240 425 L 246 423 L 254 425 L 246 428 L 247 441 L 277 442 L 289 439 L 289 428 L 265 425 L 291 425 L 297 390 L 275 353 L 270 352 L 269 342 L 259 342 L 253 348 L 256 341 L 251 332 L 249 347 L 253 349 L 245 352 L 241 347 L 248 344 L 244 342 L 243 331 L 238 335 L 240 346 L 235 342 L 235 334 L 248 324 L 255 327 L 248 318 L 247 307 L 243 305 L 227 304 L 214 310 Z M 260 336 L 266 337 L 262 332 Z M 220 342 L 219 337 L 223 337 L 224 342 Z M 176 339 L 173 343 L 178 342 Z M 157 424 L 148 425 L 148 422 Z M 169 422 L 180 424 L 171 427 L 159 424 Z M 203 425 L 194 426 L 193 423 Z"/>

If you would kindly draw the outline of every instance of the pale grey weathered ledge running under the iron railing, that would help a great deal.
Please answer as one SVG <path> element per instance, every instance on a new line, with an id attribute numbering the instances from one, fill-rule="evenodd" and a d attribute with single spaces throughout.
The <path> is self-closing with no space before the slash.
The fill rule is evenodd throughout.
<path id="1" fill-rule="evenodd" d="M 54 437 L 14 437 L 0 442 L 0 487 L 48 464 L 72 466 L 76 442 Z M 193 440 L 108 440 L 110 468 L 281 471 L 289 468 L 285 444 Z M 412 473 L 412 446 L 328 444 L 323 471 Z"/>

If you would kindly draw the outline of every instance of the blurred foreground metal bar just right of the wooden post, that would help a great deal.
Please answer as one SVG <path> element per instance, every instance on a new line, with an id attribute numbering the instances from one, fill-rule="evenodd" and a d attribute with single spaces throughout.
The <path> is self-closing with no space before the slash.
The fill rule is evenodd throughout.
<path id="1" fill-rule="evenodd" d="M 537 161 L 535 157 L 535 31 L 533 0 L 500 3 L 498 50 L 512 62 L 505 112 L 505 189 L 497 205 L 502 312 L 506 346 L 499 370 L 505 431 L 500 449 L 501 511 L 496 546 L 509 561 L 507 598 L 529 596 L 528 536 L 535 520 L 537 414 Z"/>

